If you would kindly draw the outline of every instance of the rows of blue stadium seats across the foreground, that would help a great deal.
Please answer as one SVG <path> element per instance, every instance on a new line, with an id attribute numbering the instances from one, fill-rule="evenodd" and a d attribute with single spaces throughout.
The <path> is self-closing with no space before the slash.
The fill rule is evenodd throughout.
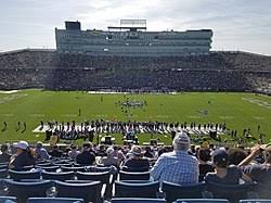
<path id="1" fill-rule="evenodd" d="M 222 202 L 238 202 L 249 198 L 257 198 L 257 202 L 260 202 L 259 198 L 261 198 L 257 193 L 259 186 L 255 182 L 236 186 L 199 182 L 184 187 L 152 181 L 150 172 L 117 172 L 115 167 L 80 166 L 69 158 L 39 160 L 36 166 L 26 166 L 16 170 L 9 169 L 8 164 L 1 164 L 0 178 L 1 196 L 15 196 L 11 201 L 18 203 L 27 202 L 29 198 L 46 196 L 50 198 L 49 201 L 62 198 L 60 200 L 62 202 L 83 201 L 86 203 L 105 201 L 171 203 L 178 199 L 199 199 L 195 200 L 196 202 L 204 200 L 219 202 L 218 199 L 224 199 Z M 142 200 L 136 200 L 138 198 Z M 35 203 L 30 199 L 28 202 Z M 179 202 L 190 201 L 180 200 Z"/>

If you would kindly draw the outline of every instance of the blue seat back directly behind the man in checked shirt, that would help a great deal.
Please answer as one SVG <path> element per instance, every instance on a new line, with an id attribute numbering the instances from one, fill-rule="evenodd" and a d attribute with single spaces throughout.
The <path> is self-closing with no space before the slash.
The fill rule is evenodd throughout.
<path id="1" fill-rule="evenodd" d="M 205 182 L 192 186 L 181 186 L 172 182 L 164 181 L 162 191 L 166 193 L 167 202 L 173 202 L 177 199 L 197 199 L 203 198 L 206 189 Z"/>

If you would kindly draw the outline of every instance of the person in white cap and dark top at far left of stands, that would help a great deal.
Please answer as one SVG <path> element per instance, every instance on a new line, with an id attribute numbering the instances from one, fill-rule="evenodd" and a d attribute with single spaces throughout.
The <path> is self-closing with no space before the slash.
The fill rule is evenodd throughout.
<path id="1" fill-rule="evenodd" d="M 26 141 L 18 141 L 13 145 L 16 148 L 16 154 L 11 157 L 10 168 L 20 169 L 35 165 L 34 152 Z"/>

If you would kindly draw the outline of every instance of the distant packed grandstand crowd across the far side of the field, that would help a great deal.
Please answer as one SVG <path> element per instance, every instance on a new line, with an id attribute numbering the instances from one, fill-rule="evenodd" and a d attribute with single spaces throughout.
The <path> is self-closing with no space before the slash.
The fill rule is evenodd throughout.
<path id="1" fill-rule="evenodd" d="M 211 52 L 120 58 L 18 51 L 0 55 L 0 89 L 223 90 L 270 93 L 270 56 Z"/>

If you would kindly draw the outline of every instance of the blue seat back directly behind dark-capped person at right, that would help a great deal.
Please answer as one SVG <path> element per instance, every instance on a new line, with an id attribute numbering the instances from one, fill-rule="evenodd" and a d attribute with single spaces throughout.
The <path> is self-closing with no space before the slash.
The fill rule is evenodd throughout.
<path id="1" fill-rule="evenodd" d="M 254 190 L 257 185 L 243 183 L 243 185 L 221 185 L 215 182 L 207 183 L 207 190 L 212 193 L 214 198 L 227 199 L 230 202 L 238 202 L 248 198 L 248 192 Z"/>

